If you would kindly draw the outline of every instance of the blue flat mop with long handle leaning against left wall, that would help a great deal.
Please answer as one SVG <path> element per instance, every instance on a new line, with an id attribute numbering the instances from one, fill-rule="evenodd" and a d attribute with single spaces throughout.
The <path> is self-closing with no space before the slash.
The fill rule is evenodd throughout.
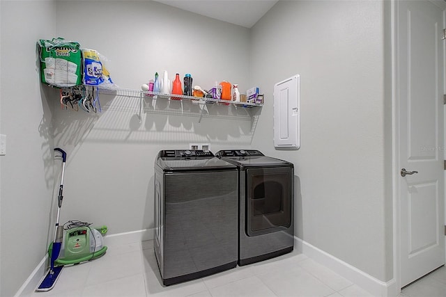
<path id="1" fill-rule="evenodd" d="M 62 207 L 62 200 L 63 200 L 63 174 L 65 172 L 65 162 L 67 159 L 67 154 L 59 147 L 56 147 L 54 149 L 55 151 L 61 152 L 62 154 L 62 177 L 61 177 L 61 185 L 59 186 L 59 195 L 57 196 L 58 201 L 58 208 L 57 208 L 57 218 L 56 218 L 56 225 L 54 227 L 54 241 L 53 241 L 53 248 L 51 252 L 51 259 L 49 262 L 49 271 L 43 278 L 43 280 L 40 282 L 39 287 L 36 289 L 36 291 L 49 291 L 54 287 L 54 284 L 56 284 L 57 279 L 59 278 L 59 275 L 61 274 L 63 266 L 54 266 L 54 262 L 59 257 L 59 252 L 61 252 L 62 247 L 62 238 L 63 238 L 63 226 L 59 226 L 59 217 L 61 215 L 61 207 Z"/>

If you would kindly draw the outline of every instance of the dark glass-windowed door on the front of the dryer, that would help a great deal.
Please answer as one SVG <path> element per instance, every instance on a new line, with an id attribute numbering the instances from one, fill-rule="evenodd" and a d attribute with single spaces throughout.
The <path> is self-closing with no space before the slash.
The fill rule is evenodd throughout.
<path id="1" fill-rule="evenodd" d="M 293 170 L 248 168 L 246 233 L 256 236 L 284 230 L 291 225 Z"/>

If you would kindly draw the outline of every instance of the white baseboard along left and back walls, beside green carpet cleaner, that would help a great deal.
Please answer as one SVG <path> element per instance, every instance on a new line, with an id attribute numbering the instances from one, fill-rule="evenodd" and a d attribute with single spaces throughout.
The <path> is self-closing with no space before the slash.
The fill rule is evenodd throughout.
<path id="1" fill-rule="evenodd" d="M 153 229 L 144 229 L 132 232 L 123 232 L 104 236 L 105 246 L 121 246 L 129 243 L 141 242 L 153 239 Z M 22 287 L 17 291 L 14 297 L 26 297 L 33 293 L 39 282 L 47 272 L 48 255 L 43 257 L 34 271 L 26 279 Z"/>

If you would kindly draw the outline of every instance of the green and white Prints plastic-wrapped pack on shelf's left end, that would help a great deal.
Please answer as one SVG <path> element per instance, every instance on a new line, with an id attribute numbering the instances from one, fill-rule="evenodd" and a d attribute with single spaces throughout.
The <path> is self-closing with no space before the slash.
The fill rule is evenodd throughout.
<path id="1" fill-rule="evenodd" d="M 40 77 L 59 88 L 82 84 L 82 53 L 78 42 L 53 38 L 39 40 Z"/>

